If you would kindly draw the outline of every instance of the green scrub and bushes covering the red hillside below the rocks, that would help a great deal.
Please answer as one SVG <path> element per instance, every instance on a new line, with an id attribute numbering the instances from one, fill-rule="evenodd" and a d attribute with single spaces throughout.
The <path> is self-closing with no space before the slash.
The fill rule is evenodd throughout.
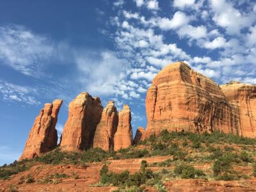
<path id="1" fill-rule="evenodd" d="M 121 149 L 118 152 L 106 152 L 100 148 L 84 150 L 82 152 L 63 152 L 56 148 L 35 159 L 15 161 L 12 164 L 0 167 L 0 179 L 9 179 L 10 176 L 28 170 L 35 163 L 45 164 L 77 164 L 86 166 L 86 163 L 106 162 L 109 159 L 130 159 L 154 156 L 169 156 L 158 163 L 147 164 L 140 172 L 130 174 L 109 172 L 102 168 L 101 184 L 115 186 L 141 186 L 148 184 L 160 186 L 163 181 L 175 178 L 204 178 L 216 180 L 238 180 L 256 177 L 255 144 L 252 138 L 243 138 L 234 134 L 213 132 L 211 134 L 195 134 L 191 132 L 162 131 L 160 136 L 152 135 L 148 140 L 141 141 L 138 146 Z M 196 166 L 208 164 L 210 169 L 200 170 Z M 150 167 L 164 167 L 161 172 L 152 172 Z M 252 173 L 248 175 L 239 172 L 239 167 L 248 166 Z M 49 177 L 42 182 L 58 182 L 59 179 Z"/>

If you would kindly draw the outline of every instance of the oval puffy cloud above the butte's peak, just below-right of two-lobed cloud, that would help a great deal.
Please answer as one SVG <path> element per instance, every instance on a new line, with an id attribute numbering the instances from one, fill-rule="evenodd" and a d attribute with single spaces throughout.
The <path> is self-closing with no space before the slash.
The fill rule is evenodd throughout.
<path id="1" fill-rule="evenodd" d="M 191 39 L 204 38 L 207 36 L 207 29 L 205 26 L 191 26 L 186 25 L 179 29 L 177 32 L 179 36 L 188 37 Z"/>

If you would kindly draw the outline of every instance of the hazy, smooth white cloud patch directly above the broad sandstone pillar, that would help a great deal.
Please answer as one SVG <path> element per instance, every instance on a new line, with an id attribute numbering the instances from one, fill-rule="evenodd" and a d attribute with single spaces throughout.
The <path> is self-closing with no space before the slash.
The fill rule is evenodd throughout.
<path id="1" fill-rule="evenodd" d="M 124 79 L 127 64 L 114 52 L 79 52 L 76 56 L 76 63 L 81 72 L 79 81 L 84 85 L 86 92 L 99 96 L 119 93 L 116 84 Z"/>

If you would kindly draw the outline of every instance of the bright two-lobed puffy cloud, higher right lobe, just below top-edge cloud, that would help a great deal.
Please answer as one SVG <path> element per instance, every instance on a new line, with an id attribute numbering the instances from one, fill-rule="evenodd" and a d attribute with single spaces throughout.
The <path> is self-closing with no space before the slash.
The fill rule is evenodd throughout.
<path id="1" fill-rule="evenodd" d="M 189 17 L 183 12 L 176 12 L 170 20 L 166 17 L 158 18 L 157 24 L 163 30 L 177 29 L 189 23 Z"/>

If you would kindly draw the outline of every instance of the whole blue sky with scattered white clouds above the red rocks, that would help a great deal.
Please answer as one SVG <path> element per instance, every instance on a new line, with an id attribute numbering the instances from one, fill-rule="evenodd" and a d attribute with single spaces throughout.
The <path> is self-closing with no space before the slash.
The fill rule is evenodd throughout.
<path id="1" fill-rule="evenodd" d="M 129 104 L 173 61 L 217 83 L 256 83 L 256 4 L 249 0 L 0 1 L 0 164 L 17 159 L 45 102 L 80 92 Z"/>

